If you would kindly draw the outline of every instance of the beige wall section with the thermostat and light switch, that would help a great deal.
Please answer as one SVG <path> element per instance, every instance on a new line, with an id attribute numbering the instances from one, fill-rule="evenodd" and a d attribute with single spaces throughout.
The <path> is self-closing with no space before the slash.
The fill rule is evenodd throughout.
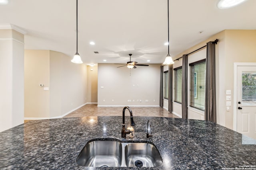
<path id="1" fill-rule="evenodd" d="M 50 51 L 25 50 L 24 117 L 50 117 Z M 40 87 L 39 84 L 44 84 Z"/>

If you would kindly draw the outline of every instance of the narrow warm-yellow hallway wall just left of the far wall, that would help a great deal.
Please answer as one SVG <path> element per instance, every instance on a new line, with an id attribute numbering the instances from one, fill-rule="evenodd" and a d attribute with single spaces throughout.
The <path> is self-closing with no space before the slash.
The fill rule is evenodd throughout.
<path id="1" fill-rule="evenodd" d="M 87 103 L 98 102 L 98 66 L 87 66 Z"/>

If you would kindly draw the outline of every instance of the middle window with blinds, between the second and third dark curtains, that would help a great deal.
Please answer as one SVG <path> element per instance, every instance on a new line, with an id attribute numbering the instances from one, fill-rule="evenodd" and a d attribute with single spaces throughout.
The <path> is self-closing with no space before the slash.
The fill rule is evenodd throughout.
<path id="1" fill-rule="evenodd" d="M 174 102 L 181 104 L 182 93 L 182 67 L 174 68 Z"/>

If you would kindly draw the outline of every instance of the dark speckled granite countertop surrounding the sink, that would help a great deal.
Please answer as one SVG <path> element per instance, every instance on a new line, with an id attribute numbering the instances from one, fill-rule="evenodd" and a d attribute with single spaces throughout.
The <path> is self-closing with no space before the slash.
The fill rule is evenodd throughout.
<path id="1" fill-rule="evenodd" d="M 90 121 L 94 119 L 94 121 Z M 147 121 L 153 137 L 146 138 Z M 126 116 L 126 127 L 129 117 Z M 256 165 L 256 145 L 242 135 L 208 121 L 166 117 L 134 117 L 134 138 L 150 141 L 163 163 L 158 167 L 84 167 L 76 158 L 91 139 L 121 139 L 121 116 L 74 117 L 30 121 L 0 133 L 0 169 L 235 169 Z M 244 139 L 243 139 L 244 140 Z M 252 142 L 255 142 L 252 140 Z"/>

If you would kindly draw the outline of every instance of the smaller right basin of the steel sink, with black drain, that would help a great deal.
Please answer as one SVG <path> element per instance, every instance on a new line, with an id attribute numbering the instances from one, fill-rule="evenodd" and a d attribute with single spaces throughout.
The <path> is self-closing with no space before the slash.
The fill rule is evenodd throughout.
<path id="1" fill-rule="evenodd" d="M 125 145 L 124 157 L 128 167 L 150 167 L 162 164 L 159 151 L 150 143 L 128 143 Z"/>

